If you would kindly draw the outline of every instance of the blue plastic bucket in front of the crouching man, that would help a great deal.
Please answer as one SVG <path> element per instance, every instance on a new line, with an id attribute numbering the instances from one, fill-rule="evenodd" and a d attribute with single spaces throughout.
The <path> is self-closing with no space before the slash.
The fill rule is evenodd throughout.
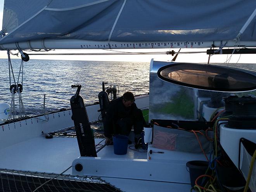
<path id="1" fill-rule="evenodd" d="M 113 136 L 114 154 L 125 155 L 128 147 L 128 137 L 125 135 Z"/>

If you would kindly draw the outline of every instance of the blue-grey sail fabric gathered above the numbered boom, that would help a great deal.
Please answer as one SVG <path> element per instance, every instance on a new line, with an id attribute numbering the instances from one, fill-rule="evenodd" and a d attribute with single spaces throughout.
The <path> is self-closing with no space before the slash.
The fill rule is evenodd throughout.
<path id="1" fill-rule="evenodd" d="M 255 0 L 5 0 L 0 44 L 233 40 L 255 9 Z M 240 40 L 256 40 L 255 17 Z"/>

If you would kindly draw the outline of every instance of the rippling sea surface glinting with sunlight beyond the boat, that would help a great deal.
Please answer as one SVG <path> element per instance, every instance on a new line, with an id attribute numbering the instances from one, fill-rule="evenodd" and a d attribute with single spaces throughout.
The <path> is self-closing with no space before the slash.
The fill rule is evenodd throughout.
<path id="1" fill-rule="evenodd" d="M 17 82 L 20 59 L 12 59 L 14 77 Z M 256 71 L 256 64 L 222 64 Z M 0 103 L 10 104 L 9 67 L 7 59 L 0 59 Z M 43 96 L 46 95 L 45 111 L 69 108 L 69 100 L 76 92 L 73 84 L 82 85 L 80 94 L 85 104 L 98 101 L 106 85 L 118 85 L 119 96 L 126 91 L 135 95 L 149 92 L 149 62 L 109 62 L 109 61 L 62 61 L 36 60 L 24 62 L 22 101 L 28 114 L 43 112 Z M 21 77 L 19 78 L 21 83 Z M 11 84 L 14 80 L 11 74 Z M 16 95 L 16 101 L 17 100 Z"/>

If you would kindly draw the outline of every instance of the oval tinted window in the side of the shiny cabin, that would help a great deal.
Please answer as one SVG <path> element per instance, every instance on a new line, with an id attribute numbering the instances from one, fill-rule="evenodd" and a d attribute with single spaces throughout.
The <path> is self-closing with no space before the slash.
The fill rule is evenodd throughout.
<path id="1" fill-rule="evenodd" d="M 253 74 L 209 64 L 171 64 L 161 67 L 158 76 L 171 83 L 205 90 L 239 92 L 256 89 Z"/>

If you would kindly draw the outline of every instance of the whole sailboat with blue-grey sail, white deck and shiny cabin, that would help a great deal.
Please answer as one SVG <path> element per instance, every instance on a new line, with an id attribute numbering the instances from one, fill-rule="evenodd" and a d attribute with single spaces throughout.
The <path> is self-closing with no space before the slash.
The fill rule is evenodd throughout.
<path id="1" fill-rule="evenodd" d="M 254 0 L 5 0 L 0 49 L 7 50 L 10 76 L 11 50 L 21 54 L 21 76 L 28 50 L 209 48 L 210 55 L 255 54 L 255 16 Z M 135 98 L 138 108 L 149 109 L 147 149 L 129 146 L 125 155 L 93 137 L 90 123 L 98 121 L 104 104 L 99 97 L 84 106 L 81 88 L 73 85 L 70 109 L 31 117 L 22 107 L 22 84 L 10 83 L 11 115 L 0 124 L 0 189 L 256 191 L 255 71 L 152 59 L 150 93 Z M 77 138 L 55 137 L 74 127 Z"/>

